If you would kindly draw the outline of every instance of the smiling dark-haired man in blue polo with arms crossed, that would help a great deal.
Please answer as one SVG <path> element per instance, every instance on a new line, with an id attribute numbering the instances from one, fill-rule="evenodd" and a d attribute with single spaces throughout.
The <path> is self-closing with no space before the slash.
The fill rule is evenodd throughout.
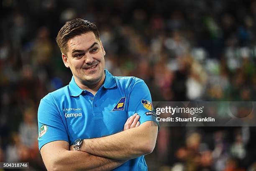
<path id="1" fill-rule="evenodd" d="M 38 108 L 39 151 L 48 170 L 147 170 L 158 123 L 143 80 L 104 70 L 96 25 L 67 22 L 56 42 L 72 71 L 69 85 L 46 95 Z"/>

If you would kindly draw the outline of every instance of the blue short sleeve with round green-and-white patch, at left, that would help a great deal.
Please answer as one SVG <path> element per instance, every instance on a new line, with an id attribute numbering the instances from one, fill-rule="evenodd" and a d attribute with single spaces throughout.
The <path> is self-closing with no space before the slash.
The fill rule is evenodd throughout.
<path id="1" fill-rule="evenodd" d="M 54 98 L 48 94 L 38 107 L 38 145 L 41 147 L 51 141 L 68 141 L 67 129 L 60 112 L 54 103 Z"/>

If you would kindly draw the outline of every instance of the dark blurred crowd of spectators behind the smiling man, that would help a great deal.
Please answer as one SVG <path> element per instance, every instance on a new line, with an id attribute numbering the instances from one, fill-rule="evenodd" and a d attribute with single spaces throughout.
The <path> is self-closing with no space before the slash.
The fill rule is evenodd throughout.
<path id="1" fill-rule="evenodd" d="M 153 101 L 255 101 L 256 1 L 0 0 L 0 161 L 38 153 L 38 104 L 67 85 L 55 38 L 96 23 L 113 75 L 143 79 Z M 149 170 L 256 171 L 254 127 L 162 127 Z"/>

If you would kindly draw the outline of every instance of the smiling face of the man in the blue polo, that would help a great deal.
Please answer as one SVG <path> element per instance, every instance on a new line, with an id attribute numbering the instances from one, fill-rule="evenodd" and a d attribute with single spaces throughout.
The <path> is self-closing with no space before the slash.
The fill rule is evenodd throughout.
<path id="1" fill-rule="evenodd" d="M 95 85 L 105 78 L 105 50 L 93 32 L 71 38 L 67 48 L 67 56 L 62 54 L 62 59 L 76 81 L 83 85 Z"/>

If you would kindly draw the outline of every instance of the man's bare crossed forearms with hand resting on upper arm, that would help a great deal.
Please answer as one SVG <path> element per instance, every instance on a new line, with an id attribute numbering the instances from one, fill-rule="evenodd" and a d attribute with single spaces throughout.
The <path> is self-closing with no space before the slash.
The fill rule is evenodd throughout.
<path id="1" fill-rule="evenodd" d="M 80 151 L 72 151 L 67 141 L 45 144 L 41 155 L 47 170 L 112 170 L 127 160 L 151 153 L 158 126 L 154 121 L 139 126 L 138 119 L 136 114 L 128 118 L 122 132 L 84 139 Z"/>

